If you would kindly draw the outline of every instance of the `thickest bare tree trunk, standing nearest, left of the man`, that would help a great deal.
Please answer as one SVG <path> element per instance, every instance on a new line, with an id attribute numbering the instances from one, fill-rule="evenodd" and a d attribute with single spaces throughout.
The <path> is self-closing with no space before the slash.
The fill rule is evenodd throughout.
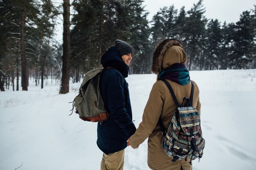
<path id="1" fill-rule="evenodd" d="M 70 0 L 63 0 L 63 56 L 60 94 L 69 92 L 70 80 Z"/>

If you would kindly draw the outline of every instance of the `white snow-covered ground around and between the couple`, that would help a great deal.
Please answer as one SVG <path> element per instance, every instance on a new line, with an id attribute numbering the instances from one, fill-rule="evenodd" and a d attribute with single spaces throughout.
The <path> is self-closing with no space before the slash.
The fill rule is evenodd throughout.
<path id="1" fill-rule="evenodd" d="M 256 70 L 191 71 L 200 88 L 204 156 L 194 170 L 256 170 Z M 129 75 L 138 127 L 156 75 Z M 50 81 L 49 81 L 50 82 Z M 99 170 L 97 123 L 69 116 L 80 83 L 0 92 L 0 170 Z M 12 88 L 10 88 L 12 89 Z M 125 170 L 149 170 L 147 140 L 126 148 Z M 21 166 L 22 165 L 22 166 Z"/>

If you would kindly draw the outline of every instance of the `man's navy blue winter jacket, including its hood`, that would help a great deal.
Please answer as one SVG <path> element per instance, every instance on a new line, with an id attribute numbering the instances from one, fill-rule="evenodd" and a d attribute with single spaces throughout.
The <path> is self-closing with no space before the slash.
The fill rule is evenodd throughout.
<path id="1" fill-rule="evenodd" d="M 132 122 L 128 83 L 124 77 L 128 76 L 129 67 L 115 47 L 106 51 L 101 64 L 104 68 L 111 67 L 103 71 L 100 80 L 101 95 L 109 119 L 98 123 L 97 145 L 105 154 L 110 154 L 126 148 L 126 140 L 134 134 L 136 128 Z"/>

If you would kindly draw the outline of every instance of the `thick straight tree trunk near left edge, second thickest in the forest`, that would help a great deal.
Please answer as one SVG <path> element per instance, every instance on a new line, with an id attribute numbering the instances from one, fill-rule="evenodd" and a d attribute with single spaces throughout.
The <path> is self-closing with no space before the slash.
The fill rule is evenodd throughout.
<path id="1" fill-rule="evenodd" d="M 20 60 L 21 60 L 21 86 L 22 91 L 27 91 L 28 75 L 27 75 L 27 58 L 25 54 L 25 40 L 24 40 L 24 27 L 25 27 L 25 12 L 21 12 L 20 21 Z"/>

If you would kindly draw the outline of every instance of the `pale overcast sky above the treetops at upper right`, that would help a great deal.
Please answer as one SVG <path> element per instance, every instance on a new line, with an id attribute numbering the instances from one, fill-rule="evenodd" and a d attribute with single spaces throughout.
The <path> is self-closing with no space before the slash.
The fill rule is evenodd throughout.
<path id="1" fill-rule="evenodd" d="M 180 11 L 181 7 L 185 7 L 185 11 L 189 11 L 193 4 L 199 0 L 144 0 L 145 10 L 150 12 L 148 20 L 162 7 L 169 7 L 172 4 L 175 9 Z M 254 9 L 256 0 L 203 0 L 206 12 L 204 15 L 207 19 L 218 19 L 220 22 L 236 23 L 240 19 L 243 11 Z"/>

